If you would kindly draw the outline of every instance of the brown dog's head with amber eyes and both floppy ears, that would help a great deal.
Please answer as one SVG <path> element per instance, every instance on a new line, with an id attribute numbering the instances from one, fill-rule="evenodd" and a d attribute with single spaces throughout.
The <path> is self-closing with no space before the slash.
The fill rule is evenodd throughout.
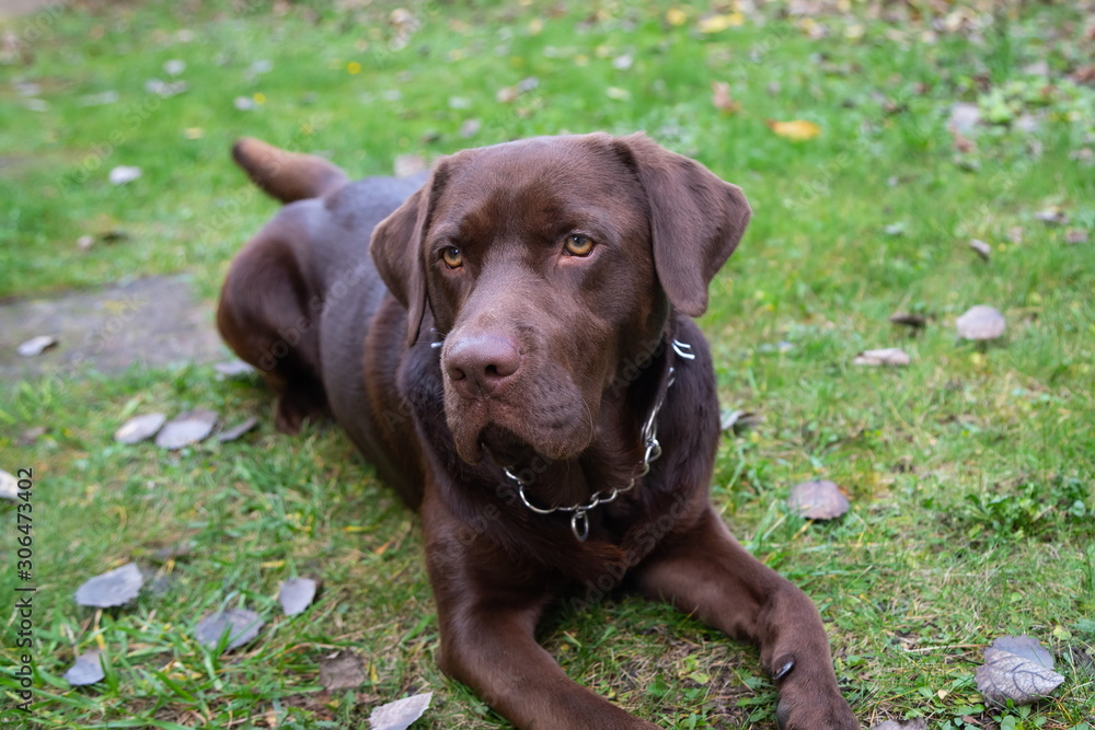
<path id="1" fill-rule="evenodd" d="M 460 456 L 485 444 L 561 460 L 589 445 L 669 306 L 706 310 L 749 215 L 738 187 L 642 135 L 545 137 L 441 159 L 371 251 L 408 341 L 427 308 L 445 338 Z"/>

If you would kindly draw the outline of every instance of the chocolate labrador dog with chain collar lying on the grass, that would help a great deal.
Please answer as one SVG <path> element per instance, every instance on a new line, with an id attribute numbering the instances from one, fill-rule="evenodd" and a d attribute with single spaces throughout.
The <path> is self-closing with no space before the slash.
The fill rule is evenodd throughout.
<path id="1" fill-rule="evenodd" d="M 217 323 L 293 431 L 331 413 L 422 517 L 440 663 L 520 728 L 653 728 L 569 680 L 544 609 L 616 589 L 760 645 L 788 730 L 857 728 L 806 595 L 708 501 L 719 439 L 692 317 L 750 216 L 642 135 L 545 137 L 349 182 L 244 139 L 287 205 Z"/>

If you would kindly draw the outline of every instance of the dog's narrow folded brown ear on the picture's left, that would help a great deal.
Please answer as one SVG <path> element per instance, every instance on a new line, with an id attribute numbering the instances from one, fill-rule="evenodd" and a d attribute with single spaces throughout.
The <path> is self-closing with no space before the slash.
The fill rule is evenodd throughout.
<path id="1" fill-rule="evenodd" d="M 434 167 L 429 179 L 403 201 L 395 211 L 377 224 L 369 242 L 369 253 L 384 286 L 407 311 L 407 347 L 418 339 L 426 312 L 426 264 L 423 236 L 429 228 L 434 201 L 445 179 L 443 161 Z"/>

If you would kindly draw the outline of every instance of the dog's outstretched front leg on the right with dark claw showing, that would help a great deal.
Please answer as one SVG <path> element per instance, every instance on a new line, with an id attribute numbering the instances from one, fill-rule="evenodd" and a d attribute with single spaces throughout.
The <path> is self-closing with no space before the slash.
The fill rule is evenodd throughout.
<path id="1" fill-rule="evenodd" d="M 711 510 L 636 569 L 652 598 L 671 601 L 726 634 L 760 646 L 780 691 L 784 730 L 855 730 L 837 687 L 829 640 L 814 603 L 730 535 Z"/>

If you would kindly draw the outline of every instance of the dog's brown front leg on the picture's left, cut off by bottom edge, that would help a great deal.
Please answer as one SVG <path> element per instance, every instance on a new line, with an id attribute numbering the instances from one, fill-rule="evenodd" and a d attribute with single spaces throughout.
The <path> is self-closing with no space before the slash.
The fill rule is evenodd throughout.
<path id="1" fill-rule="evenodd" d="M 570 680 L 537 644 L 535 626 L 552 593 L 483 559 L 497 551 L 461 534 L 430 498 L 423 506 L 426 554 L 441 633 L 440 665 L 518 728 L 641 730 L 636 718 Z M 497 555 L 496 555 L 497 557 Z"/>

